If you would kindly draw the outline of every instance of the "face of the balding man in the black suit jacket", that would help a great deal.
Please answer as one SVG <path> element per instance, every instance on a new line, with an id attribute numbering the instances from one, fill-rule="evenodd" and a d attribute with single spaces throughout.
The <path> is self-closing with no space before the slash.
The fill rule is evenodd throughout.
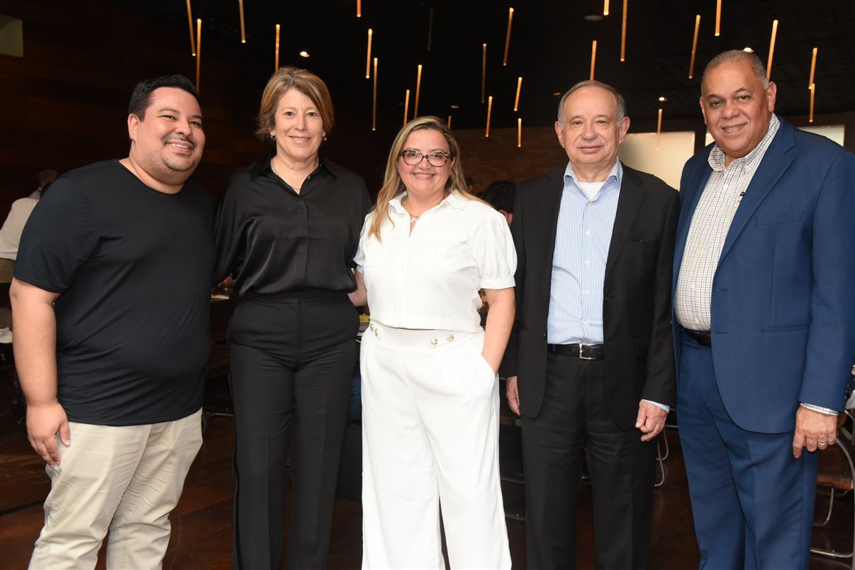
<path id="1" fill-rule="evenodd" d="M 581 87 L 567 97 L 563 117 L 555 132 L 575 175 L 583 182 L 606 179 L 629 129 L 628 117 L 617 120 L 614 94 L 595 85 Z"/>

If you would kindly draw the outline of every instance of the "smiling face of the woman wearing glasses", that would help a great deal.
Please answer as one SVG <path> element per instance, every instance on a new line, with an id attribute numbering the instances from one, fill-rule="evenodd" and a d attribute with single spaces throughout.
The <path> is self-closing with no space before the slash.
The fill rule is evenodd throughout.
<path id="1" fill-rule="evenodd" d="M 436 151 L 451 153 L 442 133 L 429 128 L 410 132 L 404 141 L 403 150 L 417 150 L 422 155 Z M 398 156 L 398 173 L 408 194 L 425 199 L 442 199 L 453 164 L 454 158 L 449 158 L 445 165 L 433 167 L 427 158 L 422 158 L 422 162 L 410 166 L 403 157 Z"/>

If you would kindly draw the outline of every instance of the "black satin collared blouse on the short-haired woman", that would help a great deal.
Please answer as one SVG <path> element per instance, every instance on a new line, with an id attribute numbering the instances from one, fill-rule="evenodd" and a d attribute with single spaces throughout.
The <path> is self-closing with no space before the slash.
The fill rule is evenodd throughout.
<path id="1" fill-rule="evenodd" d="M 324 160 L 298 194 L 270 169 L 271 154 L 233 174 L 217 208 L 215 282 L 239 295 L 353 291 L 351 268 L 371 198 L 365 181 Z"/>

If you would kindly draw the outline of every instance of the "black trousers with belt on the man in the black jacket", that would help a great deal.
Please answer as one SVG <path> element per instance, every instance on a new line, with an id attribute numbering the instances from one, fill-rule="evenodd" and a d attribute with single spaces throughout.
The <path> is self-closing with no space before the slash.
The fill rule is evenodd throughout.
<path id="1" fill-rule="evenodd" d="M 612 419 L 604 361 L 550 354 L 540 414 L 522 418 L 529 568 L 576 567 L 581 452 L 593 486 L 600 570 L 643 569 L 650 554 L 656 440 Z"/>

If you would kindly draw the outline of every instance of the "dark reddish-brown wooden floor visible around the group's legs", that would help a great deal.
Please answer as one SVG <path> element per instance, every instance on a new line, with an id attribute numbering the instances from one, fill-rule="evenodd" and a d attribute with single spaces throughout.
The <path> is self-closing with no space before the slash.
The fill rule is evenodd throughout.
<path id="1" fill-rule="evenodd" d="M 208 403 L 228 405 L 224 383 L 211 384 Z M 0 385 L 0 567 L 24 568 L 32 544 L 42 525 L 42 502 L 49 491 L 44 464 L 30 449 L 27 437 L 12 411 L 10 382 Z M 519 449 L 515 427 L 504 426 L 502 438 L 503 475 L 518 475 Z M 688 501 L 686 473 L 682 464 L 676 430 L 668 430 L 669 457 L 664 461 L 666 479 L 655 492 L 651 568 L 687 570 L 698 567 L 699 555 L 693 534 L 692 512 Z M 205 442 L 186 480 L 184 494 L 172 514 L 172 539 L 164 568 L 231 567 L 232 495 L 231 455 L 233 420 L 214 417 L 208 421 Z M 522 485 L 503 483 L 506 509 L 522 513 Z M 290 500 L 290 497 L 289 497 Z M 817 510 L 825 502 L 817 501 Z M 817 531 L 814 544 L 846 547 L 852 539 L 851 500 L 835 507 L 836 531 Z M 286 507 L 287 508 L 287 507 Z M 593 529 L 590 487 L 582 485 L 579 541 L 579 567 L 593 567 Z M 514 567 L 525 568 L 525 523 L 509 518 L 510 551 Z M 842 527 L 842 528 L 840 528 Z M 287 532 L 287 531 L 286 531 Z M 362 558 L 362 522 L 359 502 L 337 500 L 329 567 L 357 569 Z M 103 553 L 99 560 L 103 568 Z M 814 555 L 811 568 L 846 568 L 848 562 L 831 561 Z"/>

